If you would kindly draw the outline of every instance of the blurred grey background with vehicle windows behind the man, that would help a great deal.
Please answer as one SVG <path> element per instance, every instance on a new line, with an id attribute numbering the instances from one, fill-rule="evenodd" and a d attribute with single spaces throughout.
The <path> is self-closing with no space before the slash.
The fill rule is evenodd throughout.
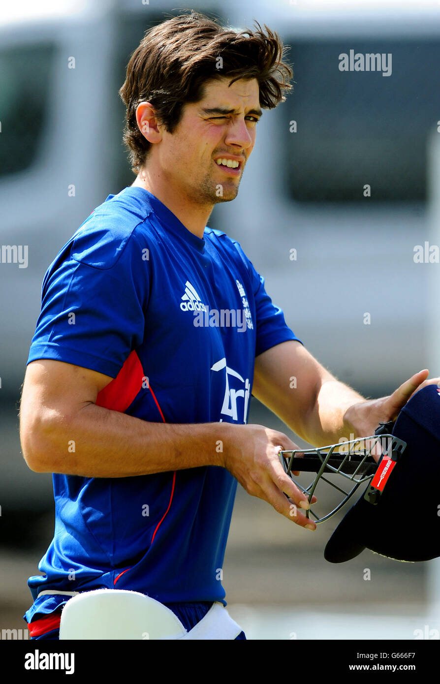
<path id="1" fill-rule="evenodd" d="M 118 89 L 144 31 L 183 9 L 268 25 L 294 68 L 237 198 L 209 226 L 240 241 L 307 349 L 363 395 L 425 367 L 440 376 L 437 1 L 12 3 L 0 16 L 0 246 L 28 246 L 28 259 L 0 251 L 0 629 L 25 627 L 27 578 L 53 535 L 51 476 L 27 468 L 17 417 L 42 278 L 94 207 L 133 182 Z M 339 70 L 350 50 L 384 55 L 390 73 Z M 255 399 L 250 422 L 304 445 Z M 223 583 L 248 638 L 438 638 L 438 562 L 365 551 L 328 564 L 340 517 L 311 534 L 239 487 Z"/>

